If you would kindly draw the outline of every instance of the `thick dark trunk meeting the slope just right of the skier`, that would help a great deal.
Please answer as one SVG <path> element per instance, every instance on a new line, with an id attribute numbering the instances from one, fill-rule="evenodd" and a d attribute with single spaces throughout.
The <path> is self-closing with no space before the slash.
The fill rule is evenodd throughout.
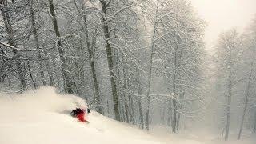
<path id="1" fill-rule="evenodd" d="M 118 89 L 117 89 L 117 84 L 116 84 L 116 75 L 114 74 L 114 62 L 113 62 L 113 55 L 112 55 L 112 50 L 110 47 L 110 31 L 109 31 L 109 26 L 108 22 L 106 22 L 106 17 L 107 17 L 107 6 L 106 6 L 106 1 L 105 0 L 100 0 L 102 4 L 102 23 L 103 23 L 103 30 L 104 30 L 104 35 L 105 35 L 105 43 L 106 43 L 106 57 L 107 57 L 107 62 L 108 62 L 108 67 L 109 67 L 109 72 L 110 72 L 110 82 L 111 82 L 111 88 L 112 88 L 112 96 L 113 96 L 113 102 L 114 102 L 114 114 L 116 120 L 120 121 L 120 113 L 119 113 L 119 106 L 118 106 Z"/>

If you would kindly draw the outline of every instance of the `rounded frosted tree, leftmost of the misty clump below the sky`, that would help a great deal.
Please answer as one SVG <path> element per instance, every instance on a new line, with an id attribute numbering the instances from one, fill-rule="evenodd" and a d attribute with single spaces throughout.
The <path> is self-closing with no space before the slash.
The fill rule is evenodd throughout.
<path id="1" fill-rule="evenodd" d="M 220 35 L 216 58 L 218 58 L 218 73 L 224 74 L 224 86 L 226 90 L 224 96 L 226 97 L 226 128 L 225 140 L 229 138 L 230 132 L 230 106 L 233 96 L 232 90 L 234 89 L 234 82 L 236 80 L 237 62 L 240 54 L 241 42 L 236 30 L 227 31 Z M 227 92 L 226 92 L 227 91 Z"/>

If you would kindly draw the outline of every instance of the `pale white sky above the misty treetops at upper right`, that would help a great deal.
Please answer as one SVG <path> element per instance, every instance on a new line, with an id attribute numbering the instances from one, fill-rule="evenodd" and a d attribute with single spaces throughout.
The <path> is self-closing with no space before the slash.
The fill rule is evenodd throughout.
<path id="1" fill-rule="evenodd" d="M 208 22 L 207 50 L 211 50 L 218 34 L 230 28 L 244 29 L 256 16 L 256 0 L 191 0 L 192 5 Z"/>

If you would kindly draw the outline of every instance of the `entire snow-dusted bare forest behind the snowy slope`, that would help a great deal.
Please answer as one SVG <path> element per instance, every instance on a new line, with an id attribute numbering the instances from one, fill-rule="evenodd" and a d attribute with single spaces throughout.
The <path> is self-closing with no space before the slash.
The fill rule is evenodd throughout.
<path id="1" fill-rule="evenodd" d="M 53 86 L 142 130 L 256 133 L 256 15 L 209 52 L 189 0 L 0 0 L 0 13 L 2 94 Z"/>

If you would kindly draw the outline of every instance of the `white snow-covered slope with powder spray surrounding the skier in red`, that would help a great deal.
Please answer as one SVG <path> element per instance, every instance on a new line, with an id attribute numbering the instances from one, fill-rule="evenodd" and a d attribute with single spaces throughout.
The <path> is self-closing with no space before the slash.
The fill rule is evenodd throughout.
<path id="1" fill-rule="evenodd" d="M 169 134 L 155 126 L 147 132 L 94 111 L 86 116 L 90 124 L 78 122 L 68 112 L 86 107 L 86 102 L 55 91 L 43 87 L 20 95 L 0 94 L 0 144 L 256 144 L 256 135 L 223 142 L 207 133 L 197 135 L 197 130 Z"/>

